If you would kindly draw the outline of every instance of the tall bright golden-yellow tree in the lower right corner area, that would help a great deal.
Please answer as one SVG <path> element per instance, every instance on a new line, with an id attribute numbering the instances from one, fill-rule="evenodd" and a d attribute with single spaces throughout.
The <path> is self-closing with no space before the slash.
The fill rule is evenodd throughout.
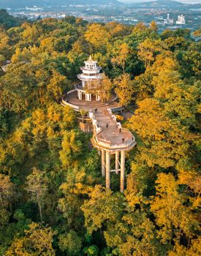
<path id="1" fill-rule="evenodd" d="M 184 197 L 178 192 L 178 182 L 171 173 L 160 173 L 156 181 L 156 196 L 151 202 L 151 211 L 156 217 L 162 243 L 180 241 L 181 235 L 191 238 L 198 222 L 189 208 L 184 206 Z"/>

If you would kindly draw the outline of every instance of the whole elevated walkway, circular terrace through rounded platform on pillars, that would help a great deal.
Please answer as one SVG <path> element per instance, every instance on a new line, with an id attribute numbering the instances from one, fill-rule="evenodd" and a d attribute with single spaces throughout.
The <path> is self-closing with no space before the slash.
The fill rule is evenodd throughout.
<path id="1" fill-rule="evenodd" d="M 101 152 L 102 156 L 102 176 L 106 178 L 106 187 L 110 188 L 110 173 L 121 174 L 120 190 L 124 192 L 125 178 L 125 157 L 126 151 L 131 150 L 136 141 L 129 129 L 121 127 L 121 123 L 116 121 L 112 110 L 124 110 L 115 102 L 116 96 L 110 99 L 108 104 L 96 100 L 86 101 L 77 98 L 77 91 L 69 91 L 61 101 L 64 106 L 69 106 L 76 111 L 87 110 L 94 126 L 94 135 L 91 142 L 94 148 Z M 110 169 L 110 157 L 115 154 L 115 170 Z"/>

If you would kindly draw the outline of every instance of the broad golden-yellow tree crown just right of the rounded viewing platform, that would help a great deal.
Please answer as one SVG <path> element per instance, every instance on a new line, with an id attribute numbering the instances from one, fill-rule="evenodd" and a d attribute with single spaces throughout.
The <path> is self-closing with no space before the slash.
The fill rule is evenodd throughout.
<path id="1" fill-rule="evenodd" d="M 175 166 L 188 158 L 189 142 L 195 139 L 179 121 L 164 115 L 156 99 L 144 99 L 129 120 L 129 127 L 140 136 L 140 160 L 153 167 Z"/>

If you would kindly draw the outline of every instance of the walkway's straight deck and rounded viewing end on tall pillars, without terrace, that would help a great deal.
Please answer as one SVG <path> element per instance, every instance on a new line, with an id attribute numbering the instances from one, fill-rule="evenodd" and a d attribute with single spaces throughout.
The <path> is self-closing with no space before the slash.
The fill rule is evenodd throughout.
<path id="1" fill-rule="evenodd" d="M 124 192 L 126 151 L 131 150 L 136 141 L 129 129 L 121 127 L 110 108 L 90 112 L 89 117 L 94 125 L 92 143 L 102 155 L 102 176 L 106 176 L 106 187 L 110 189 L 110 173 L 121 175 L 120 190 Z M 108 127 L 107 127 L 108 125 Z M 110 157 L 115 154 L 115 170 L 110 169 Z"/>

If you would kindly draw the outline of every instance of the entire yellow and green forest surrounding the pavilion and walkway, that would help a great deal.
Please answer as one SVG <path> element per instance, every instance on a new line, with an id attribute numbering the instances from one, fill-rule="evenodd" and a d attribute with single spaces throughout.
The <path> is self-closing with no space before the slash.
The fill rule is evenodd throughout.
<path id="1" fill-rule="evenodd" d="M 6 24 L 0 255 L 200 255 L 200 31 L 72 16 Z M 91 135 L 60 104 L 89 54 L 133 113 L 124 194 L 115 173 L 105 188 Z"/>

